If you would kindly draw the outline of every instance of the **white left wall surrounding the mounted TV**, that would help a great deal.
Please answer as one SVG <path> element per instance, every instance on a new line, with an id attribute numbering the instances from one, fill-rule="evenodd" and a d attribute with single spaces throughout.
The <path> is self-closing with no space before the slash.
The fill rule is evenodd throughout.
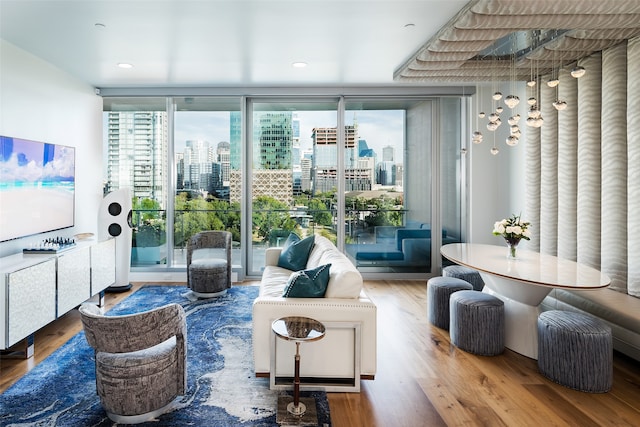
<path id="1" fill-rule="evenodd" d="M 45 237 L 97 235 L 102 200 L 102 98 L 94 88 L 0 40 L 0 135 L 76 147 L 75 227 L 0 243 L 0 256 Z"/>

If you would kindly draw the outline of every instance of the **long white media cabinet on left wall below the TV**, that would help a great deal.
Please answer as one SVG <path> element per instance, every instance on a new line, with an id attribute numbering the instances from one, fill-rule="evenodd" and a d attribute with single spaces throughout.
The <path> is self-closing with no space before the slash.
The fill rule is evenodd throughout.
<path id="1" fill-rule="evenodd" d="M 0 350 L 26 340 L 25 356 L 31 357 L 38 329 L 95 295 L 102 301 L 115 282 L 115 258 L 115 239 L 0 258 Z"/>

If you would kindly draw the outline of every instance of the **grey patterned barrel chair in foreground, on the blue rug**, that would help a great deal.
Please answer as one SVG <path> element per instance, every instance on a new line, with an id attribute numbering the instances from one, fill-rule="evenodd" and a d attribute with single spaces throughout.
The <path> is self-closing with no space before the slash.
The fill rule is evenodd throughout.
<path id="1" fill-rule="evenodd" d="M 137 424 L 170 410 L 187 382 L 182 306 L 104 316 L 96 305 L 85 303 L 79 311 L 95 350 L 96 391 L 107 416 L 116 423 Z"/>

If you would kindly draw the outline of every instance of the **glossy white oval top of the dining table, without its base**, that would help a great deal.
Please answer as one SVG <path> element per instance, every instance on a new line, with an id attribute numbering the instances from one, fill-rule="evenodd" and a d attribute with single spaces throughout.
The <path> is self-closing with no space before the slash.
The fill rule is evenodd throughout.
<path id="1" fill-rule="evenodd" d="M 480 272 L 538 286 L 565 289 L 605 288 L 611 279 L 575 261 L 518 248 L 515 260 L 507 258 L 507 246 L 452 243 L 440 248 L 442 256 Z"/>

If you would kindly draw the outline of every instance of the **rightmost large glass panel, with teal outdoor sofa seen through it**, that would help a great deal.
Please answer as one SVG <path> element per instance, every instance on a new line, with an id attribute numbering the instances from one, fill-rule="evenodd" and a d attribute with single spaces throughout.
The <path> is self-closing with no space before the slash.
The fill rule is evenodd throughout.
<path id="1" fill-rule="evenodd" d="M 446 99 L 347 99 L 345 249 L 360 271 L 430 273 L 439 263 L 434 253 L 440 245 L 459 241 L 461 181 L 442 187 L 445 197 L 434 188 L 440 173 L 450 177 L 459 167 L 458 157 L 437 157 L 460 152 L 462 122 L 449 104 Z M 443 134 L 439 117 L 457 133 Z M 453 218 L 443 222 L 438 209 Z"/>

